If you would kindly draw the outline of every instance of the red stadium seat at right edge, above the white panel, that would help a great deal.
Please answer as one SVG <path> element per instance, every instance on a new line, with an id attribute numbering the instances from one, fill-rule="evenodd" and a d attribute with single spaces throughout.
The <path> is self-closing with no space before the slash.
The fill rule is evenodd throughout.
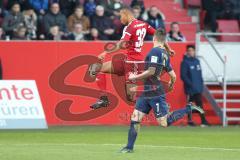
<path id="1" fill-rule="evenodd" d="M 237 20 L 218 20 L 218 31 L 221 33 L 239 33 L 239 25 Z M 240 36 L 219 36 L 220 41 L 224 42 L 240 42 Z"/>

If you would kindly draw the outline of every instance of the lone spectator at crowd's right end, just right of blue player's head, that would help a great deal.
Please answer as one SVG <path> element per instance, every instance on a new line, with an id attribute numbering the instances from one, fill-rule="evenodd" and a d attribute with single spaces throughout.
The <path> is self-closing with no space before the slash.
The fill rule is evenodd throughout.
<path id="1" fill-rule="evenodd" d="M 168 41 L 181 41 L 181 42 L 186 41 L 185 37 L 180 32 L 178 22 L 171 23 L 171 30 L 170 32 L 168 32 L 167 39 Z"/>

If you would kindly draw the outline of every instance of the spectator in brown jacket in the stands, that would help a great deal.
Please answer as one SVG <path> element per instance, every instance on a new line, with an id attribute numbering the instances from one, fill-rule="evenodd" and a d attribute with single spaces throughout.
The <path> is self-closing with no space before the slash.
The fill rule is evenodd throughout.
<path id="1" fill-rule="evenodd" d="M 69 16 L 68 30 L 70 32 L 73 31 L 75 23 L 82 24 L 82 29 L 83 29 L 84 34 L 88 34 L 90 32 L 90 21 L 89 21 L 88 17 L 83 15 L 83 13 L 84 13 L 83 7 L 78 6 L 75 8 L 74 13 L 71 16 Z"/>

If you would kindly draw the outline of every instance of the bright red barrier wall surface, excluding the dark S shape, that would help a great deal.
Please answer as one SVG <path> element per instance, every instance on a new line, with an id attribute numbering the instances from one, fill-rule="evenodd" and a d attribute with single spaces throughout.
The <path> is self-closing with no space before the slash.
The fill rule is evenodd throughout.
<path id="1" fill-rule="evenodd" d="M 182 82 L 179 77 L 180 63 L 183 53 L 185 52 L 185 43 L 172 43 L 171 47 L 176 50 L 176 56 L 171 62 L 177 74 L 177 82 L 173 92 L 167 95 L 172 109 L 181 108 L 185 105 L 185 95 L 183 92 Z M 143 52 L 147 53 L 152 47 L 151 43 L 144 45 Z M 0 57 L 3 65 L 4 79 L 25 80 L 34 79 L 39 88 L 41 100 L 49 125 L 89 125 L 89 124 L 128 124 L 133 106 L 129 106 L 119 98 L 110 76 L 108 75 L 107 85 L 108 91 L 115 95 L 119 102 L 117 107 L 112 111 L 105 108 L 101 111 L 96 111 L 97 118 L 92 118 L 87 121 L 76 121 L 83 115 L 81 113 L 89 112 L 89 105 L 96 101 L 95 98 L 84 97 L 81 95 L 64 94 L 54 91 L 49 85 L 49 77 L 55 69 L 61 64 L 79 55 L 98 55 L 104 48 L 104 42 L 0 42 Z M 110 59 L 108 57 L 107 59 Z M 95 83 L 87 83 L 83 81 L 83 76 L 86 72 L 86 66 L 81 66 L 75 69 L 66 78 L 65 82 L 74 86 L 84 85 L 89 88 L 97 89 Z M 56 115 L 56 105 L 62 100 L 73 100 L 70 107 L 74 113 L 75 121 L 66 121 Z M 62 110 L 64 112 L 64 110 Z M 85 115 L 88 116 L 88 115 Z M 182 123 L 185 121 L 180 121 Z M 145 124 L 155 124 L 153 114 L 150 114 L 144 119 Z"/>

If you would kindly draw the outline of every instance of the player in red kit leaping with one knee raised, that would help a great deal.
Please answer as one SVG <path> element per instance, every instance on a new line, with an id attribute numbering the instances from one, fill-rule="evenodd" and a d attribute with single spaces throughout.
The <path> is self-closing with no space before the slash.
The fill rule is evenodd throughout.
<path id="1" fill-rule="evenodd" d="M 119 58 L 101 64 L 92 64 L 89 67 L 89 74 L 96 77 L 97 85 L 103 92 L 100 99 L 90 106 L 92 109 L 107 107 L 109 105 L 108 97 L 104 94 L 106 91 L 105 73 L 123 76 L 126 72 L 126 67 L 124 67 L 125 61 L 143 61 L 144 55 L 141 52 L 144 38 L 146 34 L 153 35 L 155 33 L 155 29 L 149 24 L 135 19 L 130 9 L 122 9 L 120 11 L 120 21 L 122 24 L 126 25 L 123 29 L 120 41 L 117 42 L 114 49 L 102 52 L 98 58 L 103 61 L 107 54 L 120 50 L 121 45 L 125 42 L 127 42 L 127 54 L 124 58 Z M 174 51 L 169 48 L 167 43 L 165 43 L 164 47 L 169 55 L 174 55 Z"/>

